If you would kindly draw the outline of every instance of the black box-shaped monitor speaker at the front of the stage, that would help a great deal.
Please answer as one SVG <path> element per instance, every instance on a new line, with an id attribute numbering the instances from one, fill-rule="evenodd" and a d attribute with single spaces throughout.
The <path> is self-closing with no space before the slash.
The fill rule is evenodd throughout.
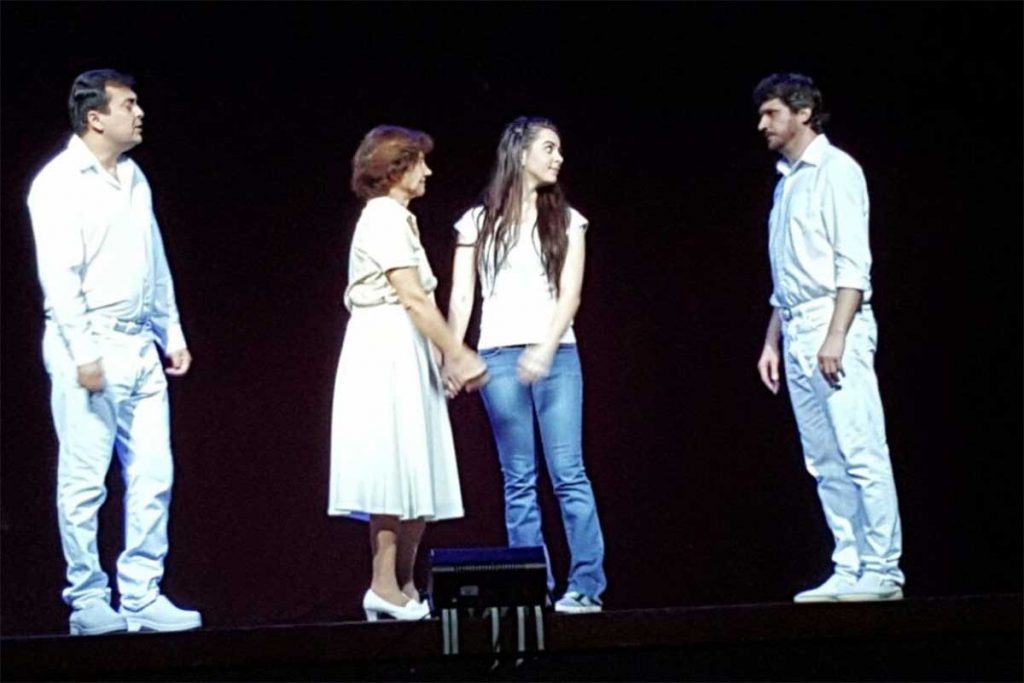
<path id="1" fill-rule="evenodd" d="M 436 548 L 430 551 L 430 599 L 434 613 L 545 605 L 544 548 Z"/>

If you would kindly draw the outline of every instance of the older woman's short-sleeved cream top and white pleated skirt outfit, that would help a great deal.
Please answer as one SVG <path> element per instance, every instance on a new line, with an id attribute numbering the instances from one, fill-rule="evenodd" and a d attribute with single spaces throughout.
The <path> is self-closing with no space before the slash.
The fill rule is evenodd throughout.
<path id="1" fill-rule="evenodd" d="M 328 514 L 449 519 L 463 515 L 440 372 L 385 272 L 415 267 L 437 286 L 416 219 L 390 198 L 370 200 L 352 237 L 331 421 Z"/>

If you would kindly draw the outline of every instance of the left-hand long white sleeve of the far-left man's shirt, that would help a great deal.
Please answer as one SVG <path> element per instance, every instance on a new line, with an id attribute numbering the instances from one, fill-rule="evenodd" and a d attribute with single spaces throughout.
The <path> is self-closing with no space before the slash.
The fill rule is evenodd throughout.
<path id="1" fill-rule="evenodd" d="M 39 177 L 29 190 L 29 215 L 36 242 L 39 282 L 50 315 L 77 366 L 101 356 L 92 339 L 82 289 L 85 244 L 78 214 L 52 176 Z"/>

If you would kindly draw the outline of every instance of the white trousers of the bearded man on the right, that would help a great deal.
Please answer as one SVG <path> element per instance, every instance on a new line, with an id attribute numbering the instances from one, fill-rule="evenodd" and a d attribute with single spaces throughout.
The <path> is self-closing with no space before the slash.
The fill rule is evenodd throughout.
<path id="1" fill-rule="evenodd" d="M 877 571 L 903 584 L 899 508 L 879 382 L 878 326 L 868 306 L 854 316 L 843 353 L 846 375 L 828 385 L 817 353 L 835 302 L 817 299 L 781 311 L 785 375 L 807 471 L 836 540 L 836 571 Z"/>

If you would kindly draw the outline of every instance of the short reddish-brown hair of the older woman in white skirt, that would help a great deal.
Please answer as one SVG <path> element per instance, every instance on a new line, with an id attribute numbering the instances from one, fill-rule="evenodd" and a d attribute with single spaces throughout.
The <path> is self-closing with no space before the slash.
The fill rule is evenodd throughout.
<path id="1" fill-rule="evenodd" d="M 409 169 L 434 148 L 421 130 L 377 126 L 362 138 L 352 157 L 352 191 L 359 199 L 384 197 Z"/>

